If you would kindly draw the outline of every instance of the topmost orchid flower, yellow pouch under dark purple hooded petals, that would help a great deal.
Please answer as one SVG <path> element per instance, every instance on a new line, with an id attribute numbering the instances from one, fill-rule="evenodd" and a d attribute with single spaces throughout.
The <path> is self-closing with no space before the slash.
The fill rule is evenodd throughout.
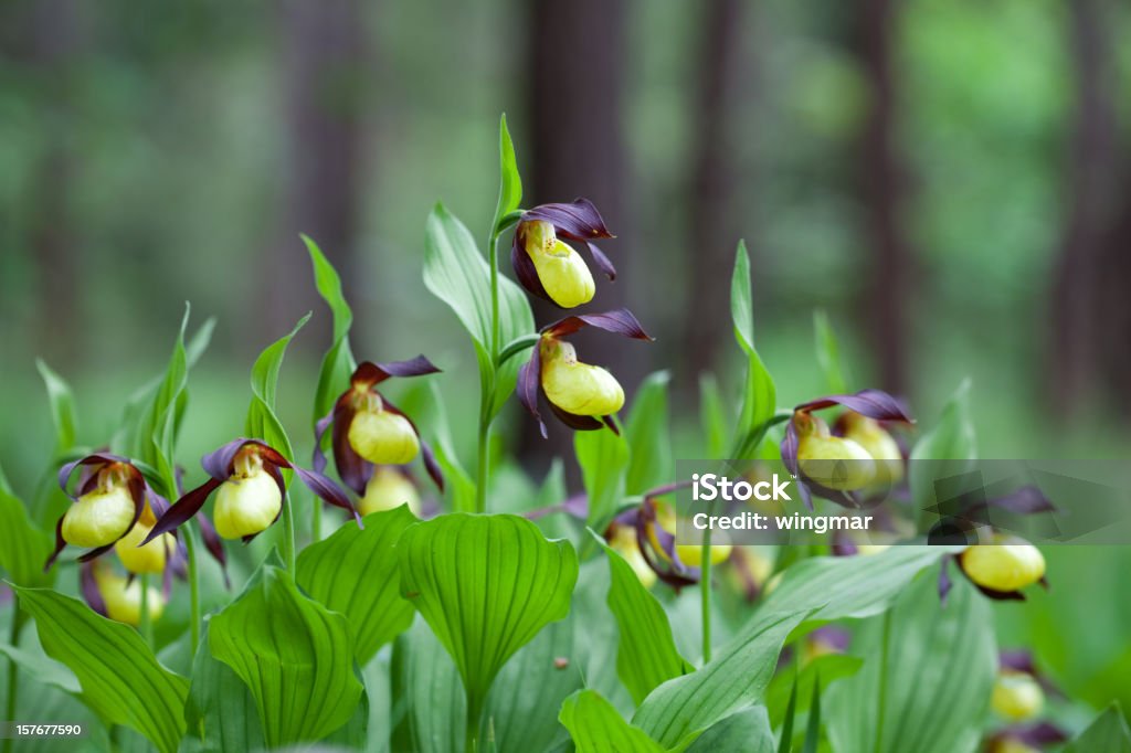
<path id="1" fill-rule="evenodd" d="M 593 261 L 608 279 L 616 269 L 595 244 L 613 237 L 601 213 L 588 199 L 572 204 L 544 204 L 523 213 L 515 231 L 510 260 L 518 282 L 527 291 L 562 309 L 593 300 L 596 285 L 580 254 L 561 239 L 584 243 Z"/>

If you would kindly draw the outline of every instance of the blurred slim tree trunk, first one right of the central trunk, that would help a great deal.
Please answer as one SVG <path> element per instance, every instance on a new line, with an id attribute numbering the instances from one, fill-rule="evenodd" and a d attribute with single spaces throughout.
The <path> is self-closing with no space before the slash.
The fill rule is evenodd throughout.
<path id="1" fill-rule="evenodd" d="M 698 84 L 693 112 L 696 138 L 688 206 L 691 209 L 687 248 L 694 249 L 690 268 L 691 298 L 682 354 L 689 366 L 684 387 L 698 388 L 700 371 L 716 366 L 719 350 L 731 341 L 728 289 L 739 222 L 734 206 L 734 148 L 731 141 L 733 89 L 737 72 L 742 5 L 739 0 L 707 0 L 699 32 Z"/>

